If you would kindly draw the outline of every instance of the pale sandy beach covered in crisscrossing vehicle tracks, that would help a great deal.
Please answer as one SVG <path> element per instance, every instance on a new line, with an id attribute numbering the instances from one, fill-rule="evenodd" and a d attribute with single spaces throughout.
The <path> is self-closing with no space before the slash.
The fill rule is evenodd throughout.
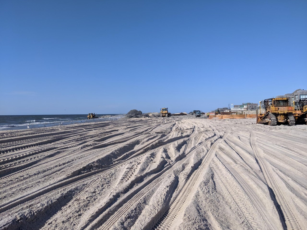
<path id="1" fill-rule="evenodd" d="M 307 125 L 255 123 L 0 131 L 0 229 L 306 229 Z"/>

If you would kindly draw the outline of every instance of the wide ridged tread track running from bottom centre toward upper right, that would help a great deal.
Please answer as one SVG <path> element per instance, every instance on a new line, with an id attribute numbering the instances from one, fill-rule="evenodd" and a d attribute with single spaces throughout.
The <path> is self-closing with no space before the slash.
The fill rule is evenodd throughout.
<path id="1" fill-rule="evenodd" d="M 225 132 L 223 138 L 216 140 L 214 144 L 212 144 L 211 148 L 204 156 L 202 163 L 200 166 L 191 174 L 188 178 L 187 182 L 175 198 L 175 200 L 169 206 L 169 209 L 162 215 L 160 220 L 155 224 L 153 229 L 169 229 L 172 226 L 173 222 L 177 219 L 177 217 L 181 214 L 181 212 L 185 209 L 187 203 L 192 198 L 192 195 L 195 192 L 195 185 L 201 179 L 200 174 L 207 169 L 209 163 L 211 162 L 216 148 L 221 140 L 227 137 L 228 131 Z"/>

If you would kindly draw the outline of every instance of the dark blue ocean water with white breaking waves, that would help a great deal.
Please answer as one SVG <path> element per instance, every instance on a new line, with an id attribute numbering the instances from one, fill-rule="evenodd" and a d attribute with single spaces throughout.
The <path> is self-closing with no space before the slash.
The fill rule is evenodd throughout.
<path id="1" fill-rule="evenodd" d="M 0 115 L 0 131 L 51 127 L 61 125 L 72 125 L 76 123 L 113 121 L 124 116 L 124 114 L 98 114 L 100 116 L 117 115 L 109 118 L 96 118 L 87 120 L 88 114 L 72 114 L 72 115 Z"/>

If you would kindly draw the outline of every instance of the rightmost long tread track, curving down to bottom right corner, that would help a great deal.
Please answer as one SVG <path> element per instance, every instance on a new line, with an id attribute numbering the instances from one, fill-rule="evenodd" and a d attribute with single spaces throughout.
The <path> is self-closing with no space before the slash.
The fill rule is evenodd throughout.
<path id="1" fill-rule="evenodd" d="M 275 182 L 274 177 L 272 176 L 270 172 L 270 168 L 266 165 L 265 160 L 262 158 L 262 155 L 260 151 L 258 150 L 257 144 L 256 144 L 256 137 L 254 132 L 251 132 L 251 147 L 253 148 L 255 157 L 257 158 L 259 165 L 262 169 L 262 172 L 264 174 L 264 177 L 267 182 L 267 186 L 269 187 L 270 193 L 275 198 L 277 205 L 277 211 L 282 217 L 282 220 L 284 221 L 284 225 L 286 229 L 302 229 L 299 220 L 296 219 L 296 216 L 293 213 L 293 208 L 290 205 L 290 202 L 287 199 L 286 194 L 282 193 L 282 190 L 279 188 L 278 184 Z"/>

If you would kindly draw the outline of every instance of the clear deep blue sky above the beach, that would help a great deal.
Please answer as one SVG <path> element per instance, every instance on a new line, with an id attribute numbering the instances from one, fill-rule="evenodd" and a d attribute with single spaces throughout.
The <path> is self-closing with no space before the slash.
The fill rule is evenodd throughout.
<path id="1" fill-rule="evenodd" d="M 306 12 L 288 0 L 0 1 L 0 115 L 208 111 L 307 89 Z"/>

